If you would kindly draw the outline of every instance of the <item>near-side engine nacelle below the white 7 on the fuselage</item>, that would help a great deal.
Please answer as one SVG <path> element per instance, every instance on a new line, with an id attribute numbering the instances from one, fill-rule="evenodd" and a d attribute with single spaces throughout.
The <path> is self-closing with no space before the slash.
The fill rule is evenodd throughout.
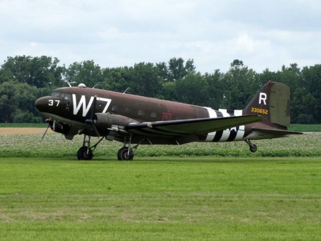
<path id="1" fill-rule="evenodd" d="M 96 113 L 94 125 L 101 136 L 107 136 L 110 133 L 108 129 L 123 130 L 129 123 L 137 123 L 134 119 L 119 114 Z"/>

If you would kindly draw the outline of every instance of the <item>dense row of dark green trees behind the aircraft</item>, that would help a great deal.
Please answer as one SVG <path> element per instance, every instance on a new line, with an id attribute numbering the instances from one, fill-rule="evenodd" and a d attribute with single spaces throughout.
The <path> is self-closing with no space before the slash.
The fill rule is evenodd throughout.
<path id="1" fill-rule="evenodd" d="M 257 73 L 240 60 L 234 60 L 223 73 L 201 74 L 193 59 L 172 58 L 168 63 L 137 63 L 134 66 L 101 68 L 94 61 L 58 65 L 48 56 L 8 57 L 0 68 L 0 122 L 37 123 L 43 116 L 35 100 L 49 95 L 66 82 L 88 87 L 186 102 L 213 108 L 240 109 L 268 80 L 287 84 L 291 89 L 291 122 L 321 123 L 321 65 L 299 68 L 297 64 Z M 75 84 L 76 85 L 76 84 Z"/>

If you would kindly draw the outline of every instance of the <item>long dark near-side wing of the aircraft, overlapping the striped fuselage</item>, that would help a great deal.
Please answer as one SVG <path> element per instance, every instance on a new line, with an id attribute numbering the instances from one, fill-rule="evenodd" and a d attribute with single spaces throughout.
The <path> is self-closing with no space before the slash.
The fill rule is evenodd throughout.
<path id="1" fill-rule="evenodd" d="M 222 131 L 228 128 L 242 126 L 262 121 L 260 115 L 241 115 L 218 118 L 182 119 L 178 121 L 131 123 L 126 130 L 129 132 L 157 133 L 171 136 L 205 135 L 211 132 Z"/>

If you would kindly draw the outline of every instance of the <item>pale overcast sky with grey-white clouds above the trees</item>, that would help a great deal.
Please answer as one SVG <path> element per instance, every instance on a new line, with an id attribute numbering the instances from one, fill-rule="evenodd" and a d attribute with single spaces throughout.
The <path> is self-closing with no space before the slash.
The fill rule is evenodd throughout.
<path id="1" fill-rule="evenodd" d="M 0 61 L 46 55 L 116 67 L 182 57 L 212 73 L 240 59 L 276 71 L 320 64 L 320 16 L 318 0 L 0 0 Z"/>

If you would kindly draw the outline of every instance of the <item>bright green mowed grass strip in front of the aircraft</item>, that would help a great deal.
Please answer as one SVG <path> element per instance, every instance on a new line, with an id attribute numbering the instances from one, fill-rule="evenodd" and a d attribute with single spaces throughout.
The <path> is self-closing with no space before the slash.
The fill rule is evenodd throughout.
<path id="1" fill-rule="evenodd" d="M 316 240 L 321 234 L 319 158 L 0 160 L 1 240 Z"/>

